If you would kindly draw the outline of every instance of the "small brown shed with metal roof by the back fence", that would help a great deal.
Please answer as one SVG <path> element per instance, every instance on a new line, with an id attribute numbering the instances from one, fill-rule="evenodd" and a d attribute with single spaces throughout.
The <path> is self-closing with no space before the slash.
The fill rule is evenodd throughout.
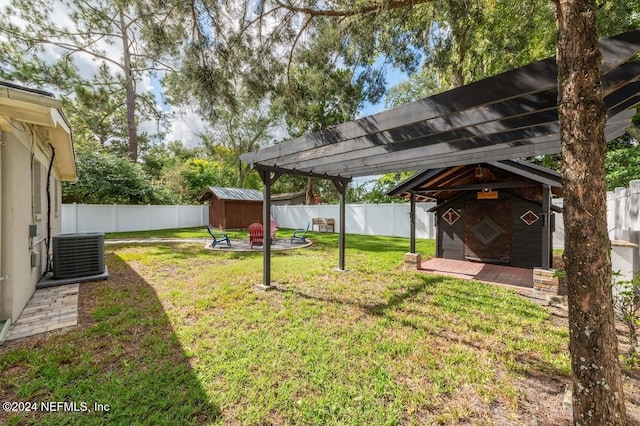
<path id="1" fill-rule="evenodd" d="M 257 189 L 210 186 L 199 201 L 209 201 L 209 225 L 214 228 L 240 229 L 262 223 L 262 192 Z"/>

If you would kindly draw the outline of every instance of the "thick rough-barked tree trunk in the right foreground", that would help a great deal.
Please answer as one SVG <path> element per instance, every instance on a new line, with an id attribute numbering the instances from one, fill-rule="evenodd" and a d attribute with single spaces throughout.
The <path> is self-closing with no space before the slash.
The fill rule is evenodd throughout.
<path id="1" fill-rule="evenodd" d="M 593 0 L 557 0 L 558 113 L 573 422 L 624 425 L 607 233 L 604 125 Z"/>

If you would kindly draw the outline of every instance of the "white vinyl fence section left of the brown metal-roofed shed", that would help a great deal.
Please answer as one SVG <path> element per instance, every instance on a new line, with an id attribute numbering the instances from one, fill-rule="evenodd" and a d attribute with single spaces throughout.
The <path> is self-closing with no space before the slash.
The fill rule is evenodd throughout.
<path id="1" fill-rule="evenodd" d="M 127 232 L 203 226 L 209 207 L 63 204 L 62 232 Z"/>

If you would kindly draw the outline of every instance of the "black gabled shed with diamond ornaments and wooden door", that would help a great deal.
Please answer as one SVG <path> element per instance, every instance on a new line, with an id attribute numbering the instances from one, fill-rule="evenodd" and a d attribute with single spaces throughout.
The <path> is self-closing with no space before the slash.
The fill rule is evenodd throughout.
<path id="1" fill-rule="evenodd" d="M 435 199 L 436 256 L 522 268 L 551 267 L 552 195 L 559 173 L 517 160 L 418 173 L 388 195 Z"/>

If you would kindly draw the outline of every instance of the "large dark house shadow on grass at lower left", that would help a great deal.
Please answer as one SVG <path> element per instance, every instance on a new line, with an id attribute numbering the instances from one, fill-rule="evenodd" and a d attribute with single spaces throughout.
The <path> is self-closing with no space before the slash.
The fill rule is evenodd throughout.
<path id="1" fill-rule="evenodd" d="M 108 254 L 107 263 L 108 281 L 80 286 L 76 329 L 0 349 L 2 400 L 75 405 L 0 412 L 0 423 L 199 425 L 220 418 L 154 289 L 119 257 Z"/>

